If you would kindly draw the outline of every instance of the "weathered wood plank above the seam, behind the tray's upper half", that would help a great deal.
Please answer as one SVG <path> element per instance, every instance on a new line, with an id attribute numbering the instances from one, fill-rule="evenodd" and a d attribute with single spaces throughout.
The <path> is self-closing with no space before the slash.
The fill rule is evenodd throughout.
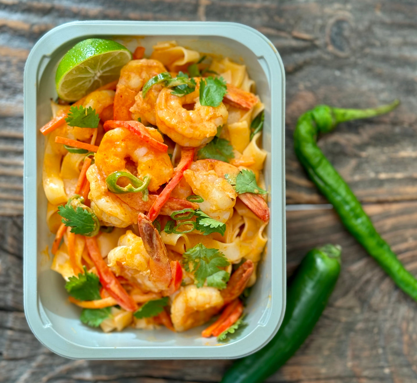
<path id="1" fill-rule="evenodd" d="M 292 150 L 297 117 L 318 103 L 369 107 L 394 97 L 402 106 L 389 116 L 343 124 L 320 146 L 362 201 L 415 200 L 417 173 L 416 5 L 158 0 L 113 3 L 0 1 L 0 158 L 23 159 L 23 67 L 36 40 L 71 20 L 224 20 L 243 22 L 267 35 L 286 67 L 287 202 L 324 199 L 306 180 Z M 395 78 L 395 81 L 392 79 Z M 0 183 L 21 185 L 21 165 L 4 165 Z M 0 198 L 0 214 L 20 214 L 21 202 Z"/>

